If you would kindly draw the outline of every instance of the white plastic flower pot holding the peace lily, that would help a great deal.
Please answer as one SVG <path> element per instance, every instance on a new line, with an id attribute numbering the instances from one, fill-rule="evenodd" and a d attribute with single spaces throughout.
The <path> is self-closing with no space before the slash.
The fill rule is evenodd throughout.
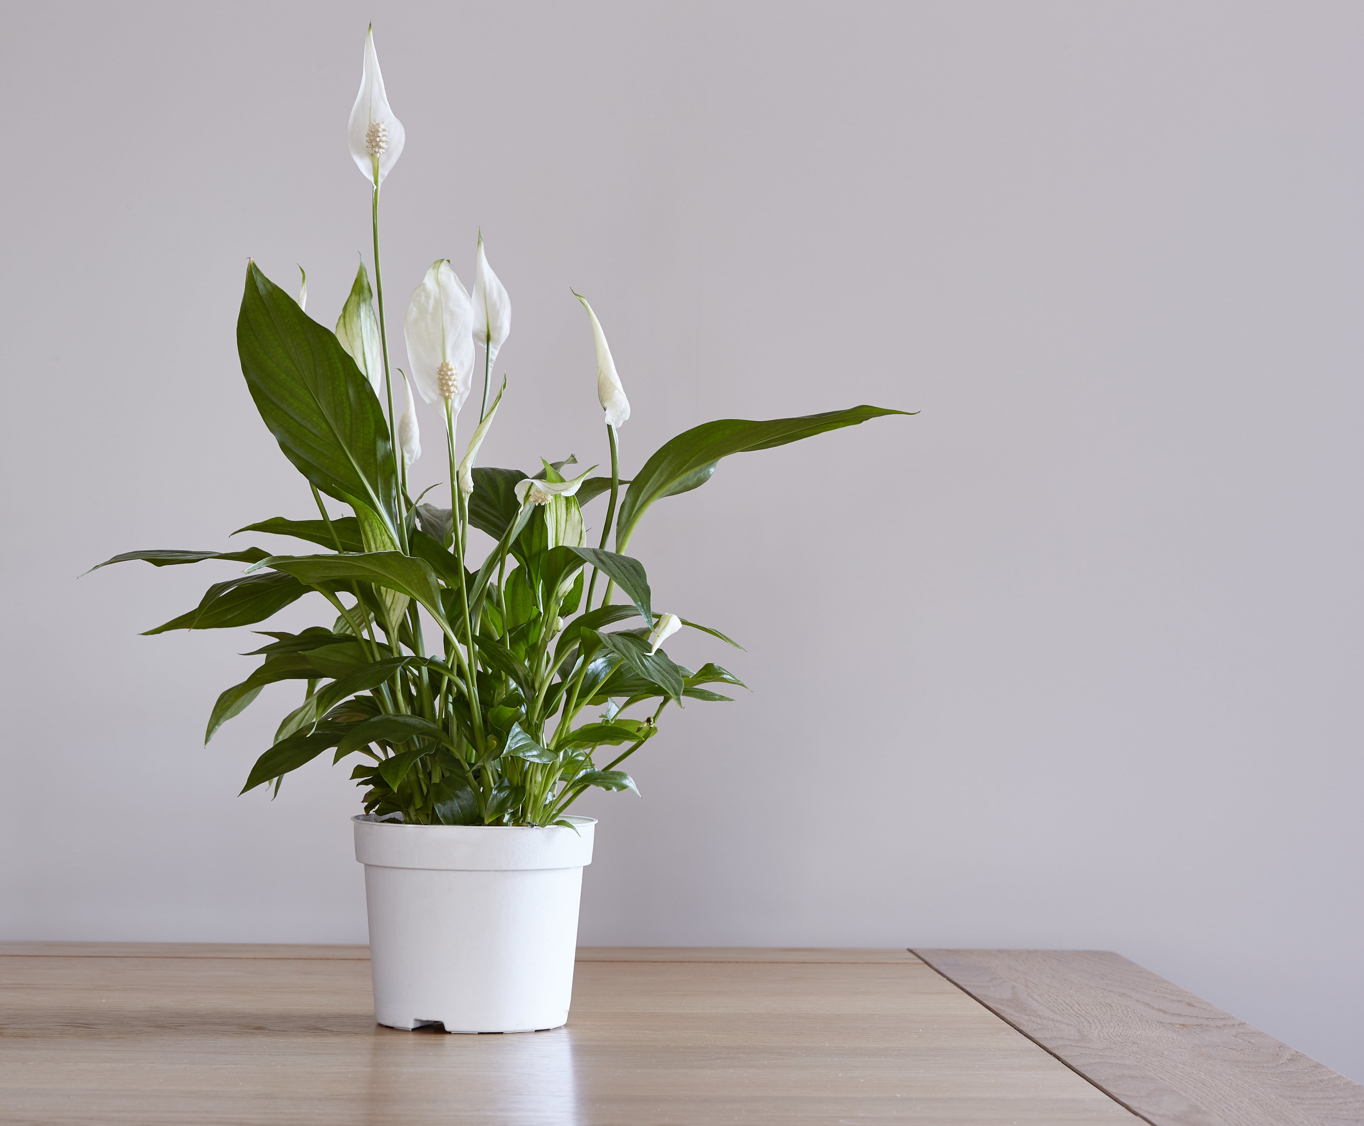
<path id="1" fill-rule="evenodd" d="M 567 1021 L 596 822 L 566 820 L 577 831 L 352 818 L 381 1025 L 539 1032 Z"/>

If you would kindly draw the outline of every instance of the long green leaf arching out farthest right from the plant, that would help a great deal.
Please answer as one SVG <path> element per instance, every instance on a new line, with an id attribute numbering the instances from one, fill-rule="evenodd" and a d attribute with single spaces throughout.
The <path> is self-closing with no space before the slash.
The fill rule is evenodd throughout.
<path id="1" fill-rule="evenodd" d="M 625 550 L 634 534 L 634 525 L 640 523 L 649 505 L 663 497 L 704 485 L 722 457 L 798 442 L 827 430 L 857 426 L 881 415 L 907 414 L 913 412 L 889 411 L 884 407 L 853 407 L 847 411 L 827 411 L 821 415 L 792 419 L 767 422 L 717 419 L 694 426 L 664 442 L 634 475 L 621 502 L 621 515 L 615 524 L 615 550 Z"/>

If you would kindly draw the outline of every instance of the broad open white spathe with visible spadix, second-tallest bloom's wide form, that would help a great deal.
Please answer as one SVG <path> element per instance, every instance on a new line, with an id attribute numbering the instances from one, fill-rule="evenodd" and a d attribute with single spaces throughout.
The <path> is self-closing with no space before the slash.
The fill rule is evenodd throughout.
<path id="1" fill-rule="evenodd" d="M 421 397 L 458 414 L 473 386 L 473 304 L 449 258 L 432 262 L 412 291 L 402 333 Z"/>

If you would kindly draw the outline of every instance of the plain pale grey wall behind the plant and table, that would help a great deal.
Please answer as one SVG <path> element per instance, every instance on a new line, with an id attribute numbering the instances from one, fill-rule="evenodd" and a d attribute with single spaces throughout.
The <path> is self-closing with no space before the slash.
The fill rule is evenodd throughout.
<path id="1" fill-rule="evenodd" d="M 0 936 L 366 938 L 348 771 L 236 797 L 297 688 L 203 748 L 251 636 L 136 636 L 236 565 L 76 575 L 311 515 L 233 325 L 368 258 L 370 19 L 394 319 L 480 227 L 512 292 L 486 464 L 606 459 L 570 285 L 626 468 L 922 411 L 645 523 L 754 691 L 588 803 L 582 940 L 1114 949 L 1364 1080 L 1350 3 L 11 5 Z"/>

